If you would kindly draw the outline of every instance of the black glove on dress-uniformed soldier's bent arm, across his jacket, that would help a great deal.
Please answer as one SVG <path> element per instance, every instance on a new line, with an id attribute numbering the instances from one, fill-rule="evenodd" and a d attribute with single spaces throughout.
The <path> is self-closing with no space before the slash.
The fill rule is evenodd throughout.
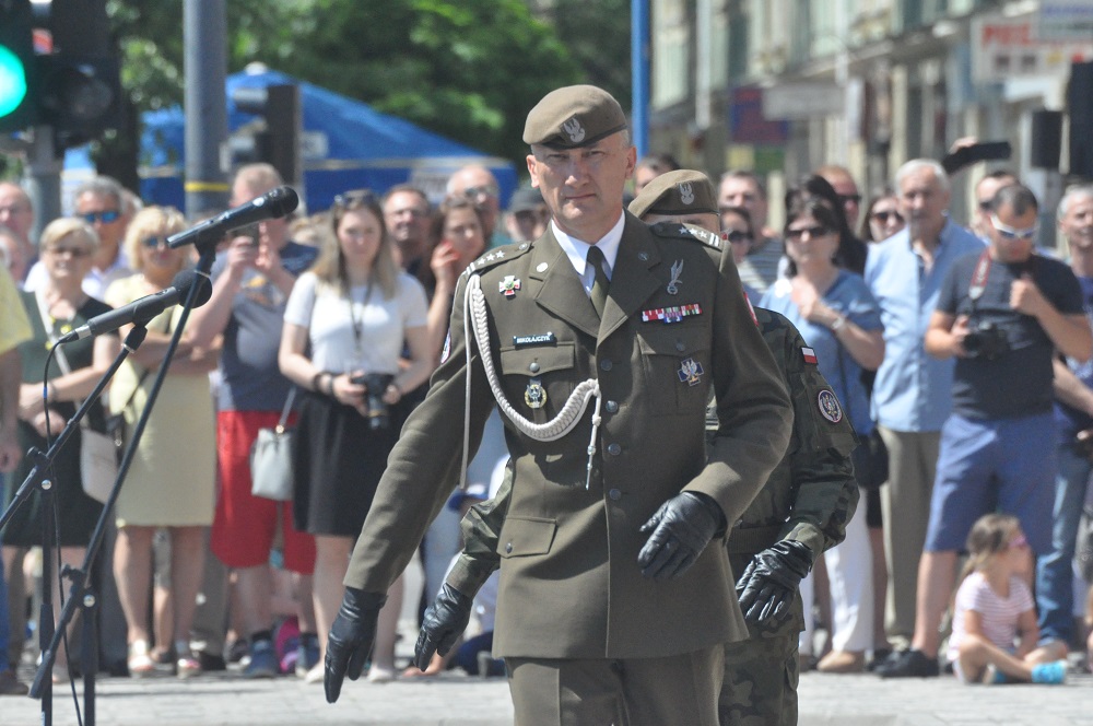
<path id="1" fill-rule="evenodd" d="M 642 525 L 640 531 L 653 534 L 637 553 L 637 566 L 657 582 L 679 577 L 724 526 L 725 513 L 717 502 L 706 494 L 681 492 Z"/>

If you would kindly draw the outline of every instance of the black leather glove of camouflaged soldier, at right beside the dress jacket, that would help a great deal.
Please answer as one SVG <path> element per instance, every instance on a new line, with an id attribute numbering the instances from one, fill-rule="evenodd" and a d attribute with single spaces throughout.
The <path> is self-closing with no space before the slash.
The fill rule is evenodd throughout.
<path id="1" fill-rule="evenodd" d="M 812 569 L 812 550 L 795 540 L 781 540 L 759 552 L 737 581 L 744 620 L 759 623 L 783 613 Z"/>

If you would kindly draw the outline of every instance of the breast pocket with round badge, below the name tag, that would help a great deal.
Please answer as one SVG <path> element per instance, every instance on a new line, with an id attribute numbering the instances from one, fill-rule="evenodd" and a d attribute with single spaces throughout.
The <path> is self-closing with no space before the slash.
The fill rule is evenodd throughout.
<path id="1" fill-rule="evenodd" d="M 576 348 L 572 342 L 502 349 L 501 373 L 509 403 L 536 423 L 550 421 L 578 383 L 575 365 Z"/>

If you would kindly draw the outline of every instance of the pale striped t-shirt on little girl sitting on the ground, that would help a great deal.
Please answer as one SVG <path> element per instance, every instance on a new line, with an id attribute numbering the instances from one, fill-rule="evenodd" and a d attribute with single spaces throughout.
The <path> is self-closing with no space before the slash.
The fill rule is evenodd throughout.
<path id="1" fill-rule="evenodd" d="M 983 634 L 991 643 L 1012 652 L 1018 634 L 1018 619 L 1022 612 L 1034 608 L 1032 593 L 1019 577 L 1010 577 L 1010 596 L 996 593 L 982 572 L 968 575 L 960 589 L 953 607 L 953 634 L 949 639 L 949 659 L 960 657 L 960 644 L 967 635 L 965 619 L 968 610 L 979 613 Z"/>

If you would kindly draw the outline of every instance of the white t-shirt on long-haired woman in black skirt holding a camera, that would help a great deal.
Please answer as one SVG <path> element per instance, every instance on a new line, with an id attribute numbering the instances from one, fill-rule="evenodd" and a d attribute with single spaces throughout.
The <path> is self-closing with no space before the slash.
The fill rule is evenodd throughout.
<path id="1" fill-rule="evenodd" d="M 367 285 L 353 286 L 346 298 L 336 286 L 320 284 L 314 272 L 304 272 L 289 296 L 284 319 L 308 329 L 312 362 L 320 371 L 397 374 L 406 330 L 424 326 L 427 309 L 425 289 L 404 272 L 390 300 L 378 284 L 371 294 Z M 354 323 L 361 330 L 360 348 Z"/>

